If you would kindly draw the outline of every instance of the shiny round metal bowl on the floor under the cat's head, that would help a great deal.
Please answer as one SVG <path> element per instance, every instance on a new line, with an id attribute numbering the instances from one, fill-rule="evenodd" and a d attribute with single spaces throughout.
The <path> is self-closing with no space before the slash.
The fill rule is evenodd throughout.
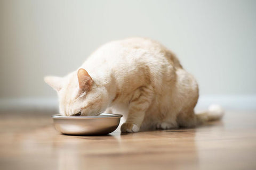
<path id="1" fill-rule="evenodd" d="M 99 116 L 60 116 L 53 115 L 57 131 L 70 135 L 105 135 L 113 132 L 123 115 L 102 113 Z"/>

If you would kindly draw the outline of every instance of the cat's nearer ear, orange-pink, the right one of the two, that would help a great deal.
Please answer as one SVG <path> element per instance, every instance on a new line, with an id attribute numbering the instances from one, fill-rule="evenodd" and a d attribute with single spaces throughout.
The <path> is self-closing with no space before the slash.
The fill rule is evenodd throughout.
<path id="1" fill-rule="evenodd" d="M 93 80 L 86 70 L 79 69 L 77 71 L 77 78 L 79 83 L 79 89 L 83 91 L 89 91 L 91 89 Z"/>

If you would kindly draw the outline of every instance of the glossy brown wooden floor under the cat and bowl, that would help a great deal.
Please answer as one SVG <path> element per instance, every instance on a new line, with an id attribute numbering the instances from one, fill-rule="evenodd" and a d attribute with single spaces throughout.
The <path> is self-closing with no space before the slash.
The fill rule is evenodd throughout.
<path id="1" fill-rule="evenodd" d="M 256 169 L 256 112 L 196 129 L 77 137 L 50 114 L 1 113 L 0 169 Z"/>

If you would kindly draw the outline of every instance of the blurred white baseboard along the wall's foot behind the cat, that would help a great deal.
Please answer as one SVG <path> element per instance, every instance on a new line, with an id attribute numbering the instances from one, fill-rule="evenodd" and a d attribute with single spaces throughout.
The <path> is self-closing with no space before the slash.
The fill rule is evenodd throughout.
<path id="1" fill-rule="evenodd" d="M 256 95 L 207 95 L 199 97 L 196 109 L 219 104 L 229 110 L 256 110 Z M 58 99 L 53 98 L 0 98 L 0 110 L 58 111 Z"/>

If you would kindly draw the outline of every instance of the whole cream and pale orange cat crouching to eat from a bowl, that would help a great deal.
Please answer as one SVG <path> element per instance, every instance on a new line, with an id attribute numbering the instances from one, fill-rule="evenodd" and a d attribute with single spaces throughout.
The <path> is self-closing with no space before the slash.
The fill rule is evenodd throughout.
<path id="1" fill-rule="evenodd" d="M 223 115 L 219 106 L 195 114 L 198 84 L 157 41 L 111 41 L 66 77 L 45 77 L 59 96 L 62 116 L 124 114 L 122 132 L 195 127 Z"/>

